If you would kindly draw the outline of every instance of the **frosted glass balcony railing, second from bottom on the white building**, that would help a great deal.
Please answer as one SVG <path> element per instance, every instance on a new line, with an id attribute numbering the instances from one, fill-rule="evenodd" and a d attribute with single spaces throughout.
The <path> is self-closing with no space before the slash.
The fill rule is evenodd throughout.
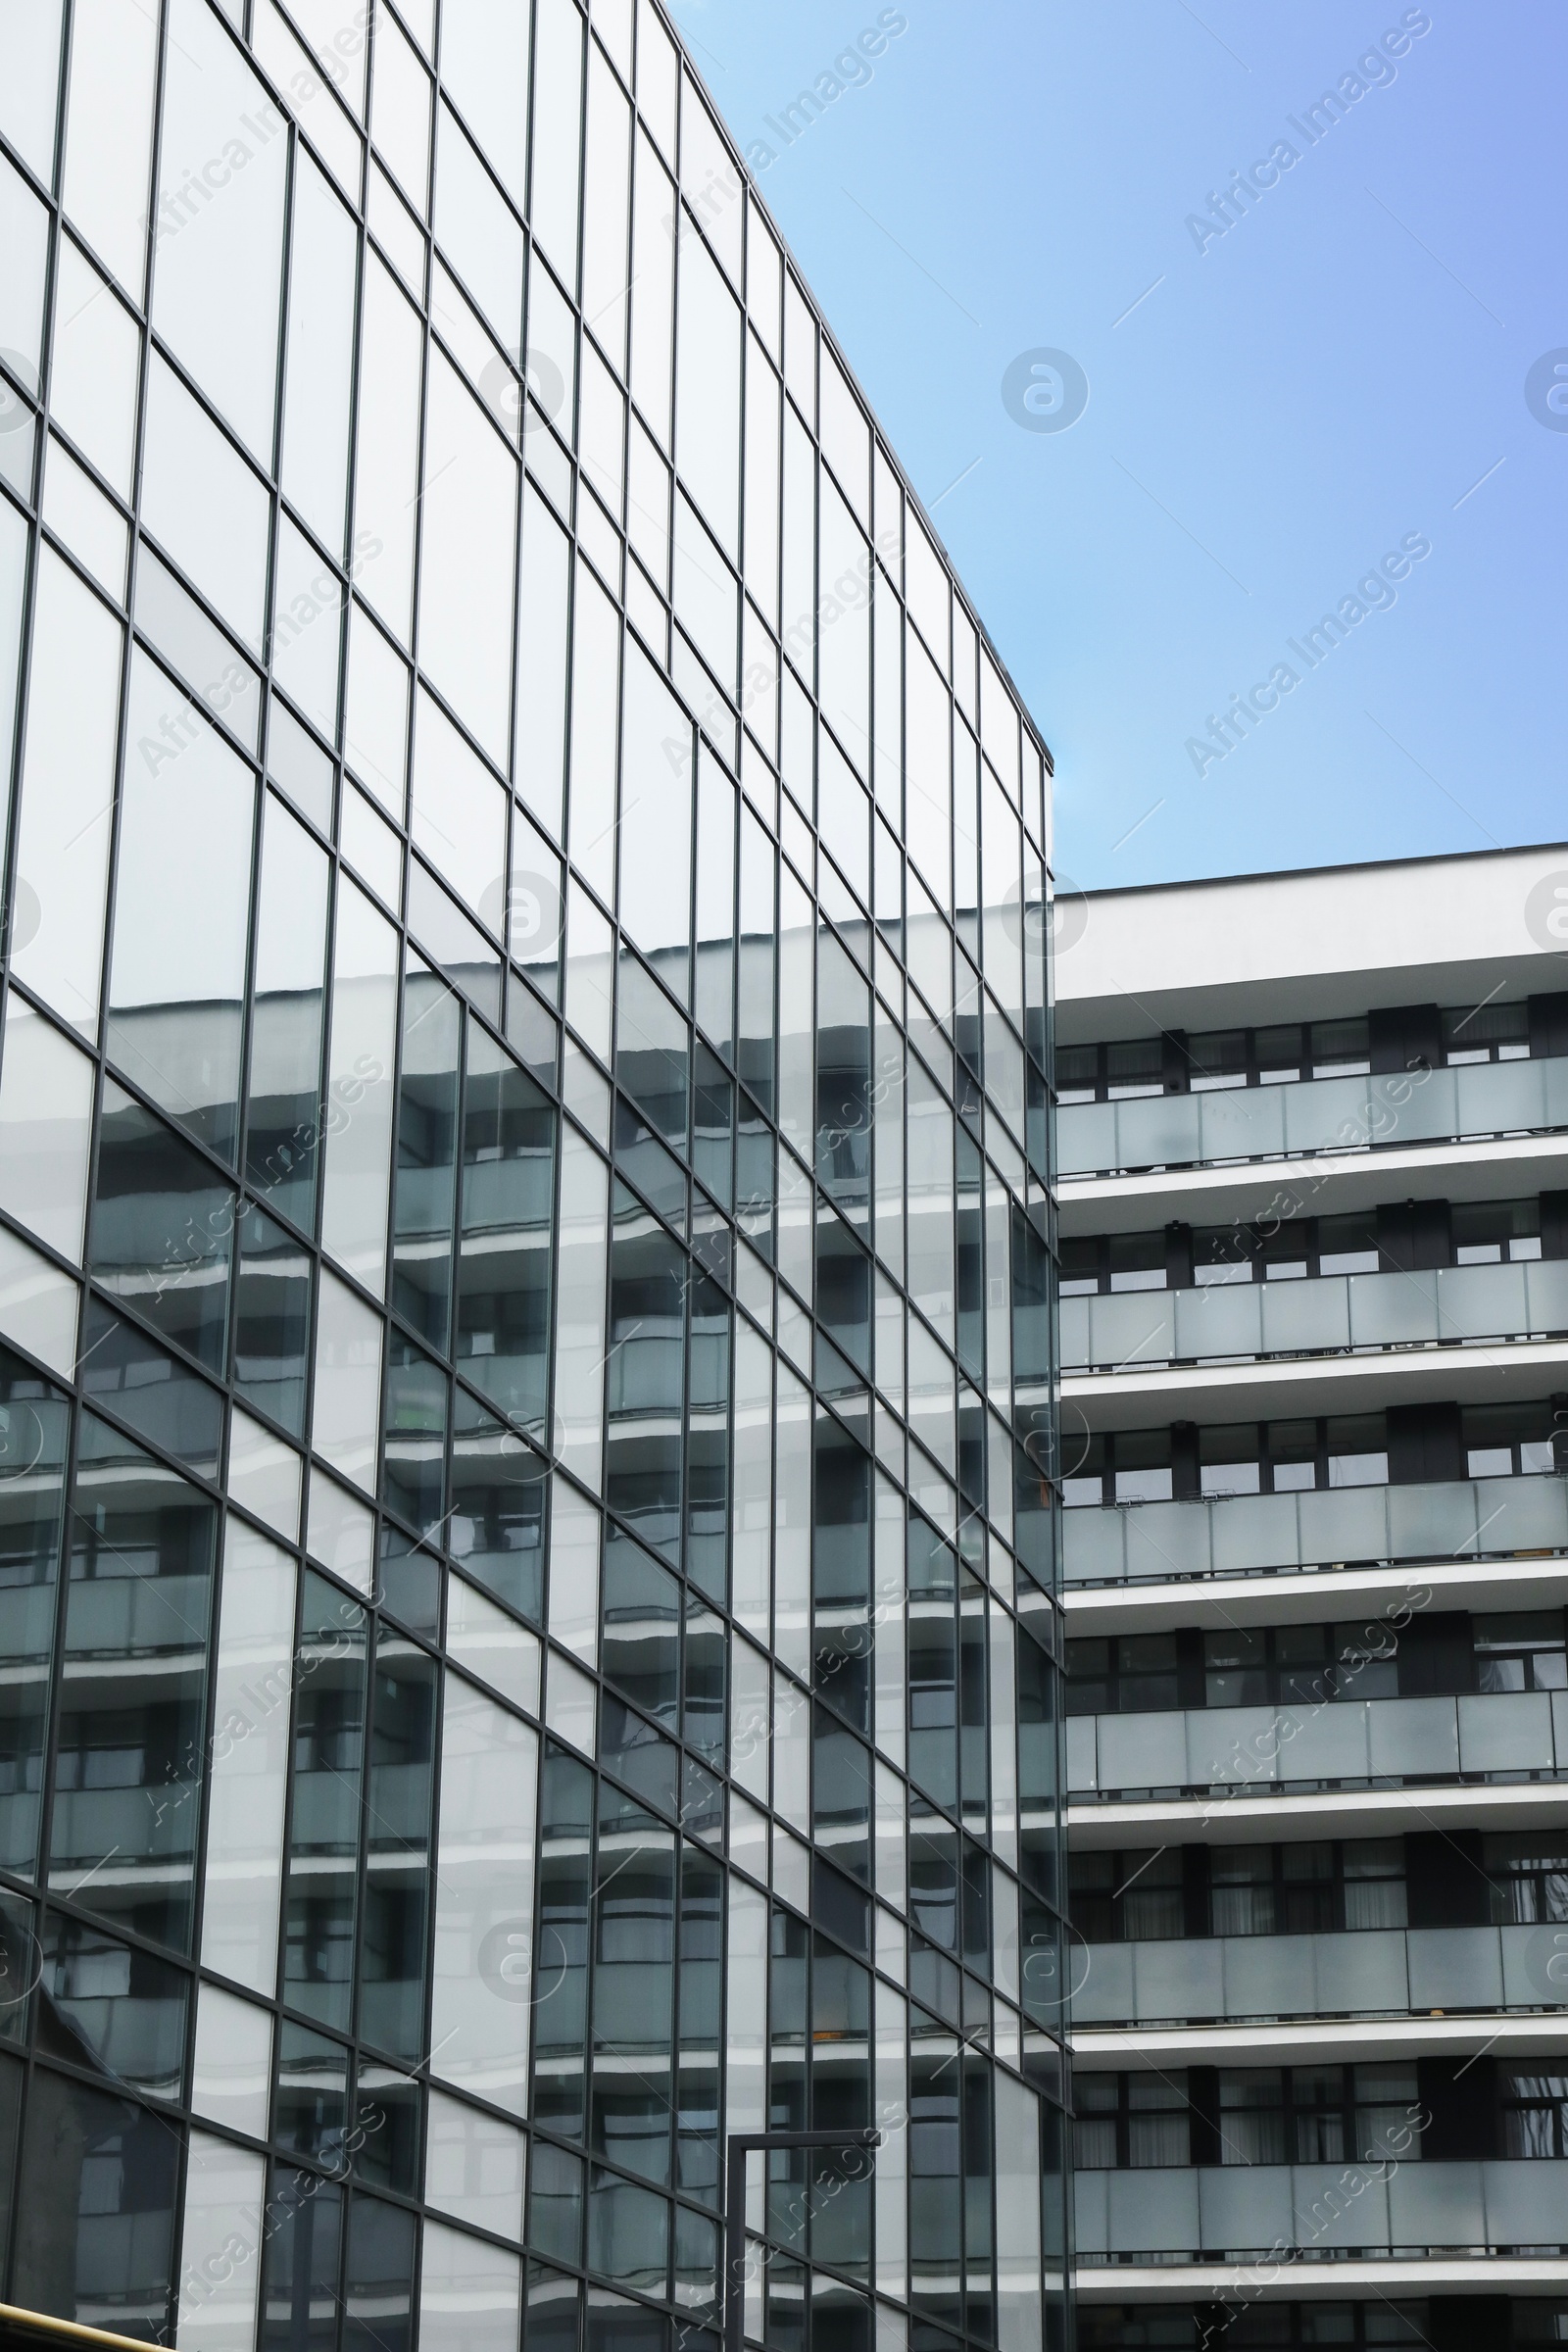
<path id="1" fill-rule="evenodd" d="M 1091 1943 L 1072 1969 L 1072 2030 L 1568 2011 L 1563 1955 L 1568 1929 L 1552 1922 Z"/>

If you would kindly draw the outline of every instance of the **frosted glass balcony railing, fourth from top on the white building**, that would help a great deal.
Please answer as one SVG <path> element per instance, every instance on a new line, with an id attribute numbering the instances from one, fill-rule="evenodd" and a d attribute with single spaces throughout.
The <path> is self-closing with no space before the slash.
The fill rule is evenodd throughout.
<path id="1" fill-rule="evenodd" d="M 1067 1719 L 1074 1802 L 1568 1776 L 1568 1691 L 1328 1698 Z M 1568 1943 L 1563 1945 L 1568 1952 Z M 1563 1962 L 1568 1973 L 1568 1959 Z"/>

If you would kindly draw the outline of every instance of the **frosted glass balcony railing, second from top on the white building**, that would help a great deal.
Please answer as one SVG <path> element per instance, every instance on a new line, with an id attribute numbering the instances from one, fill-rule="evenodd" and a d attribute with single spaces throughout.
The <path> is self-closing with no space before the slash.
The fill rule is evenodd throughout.
<path id="1" fill-rule="evenodd" d="M 1063 1371 L 1147 1371 L 1206 1357 L 1561 1338 L 1568 1258 L 1443 1265 L 1427 1275 L 1218 1282 L 1190 1291 L 1063 1298 Z"/>

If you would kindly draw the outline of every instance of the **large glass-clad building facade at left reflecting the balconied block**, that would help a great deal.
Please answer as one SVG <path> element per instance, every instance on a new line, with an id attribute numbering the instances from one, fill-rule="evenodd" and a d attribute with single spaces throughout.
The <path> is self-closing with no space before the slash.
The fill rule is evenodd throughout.
<path id="1" fill-rule="evenodd" d="M 651 0 L 0 139 L 0 2293 L 1039 2352 L 1041 741 Z"/>

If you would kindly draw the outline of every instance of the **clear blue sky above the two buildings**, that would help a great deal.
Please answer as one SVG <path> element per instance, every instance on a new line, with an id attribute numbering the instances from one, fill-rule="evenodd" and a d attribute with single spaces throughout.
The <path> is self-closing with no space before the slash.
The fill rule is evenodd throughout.
<path id="1" fill-rule="evenodd" d="M 1568 430 L 1526 397 L 1559 350 L 1568 383 L 1566 12 L 675 14 L 736 139 L 776 148 L 766 200 L 1053 748 L 1079 887 L 1568 835 Z M 766 118 L 891 16 L 870 80 L 783 146 Z M 1385 33 L 1403 54 L 1359 71 Z M 1281 141 L 1298 160 L 1206 235 Z M 1065 430 L 1004 405 L 1039 350 L 1088 383 Z M 1342 640 L 1298 659 L 1324 614 Z M 1208 722 L 1253 687 L 1220 753 Z"/>

